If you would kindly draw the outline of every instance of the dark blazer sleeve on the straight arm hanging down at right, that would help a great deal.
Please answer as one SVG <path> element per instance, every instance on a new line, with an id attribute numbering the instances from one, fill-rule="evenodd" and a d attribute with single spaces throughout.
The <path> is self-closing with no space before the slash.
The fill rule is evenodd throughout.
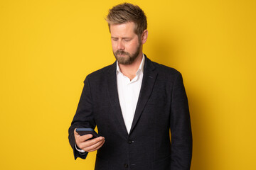
<path id="1" fill-rule="evenodd" d="M 191 166 L 192 132 L 188 99 L 183 79 L 178 73 L 171 96 L 171 170 L 187 170 Z"/>

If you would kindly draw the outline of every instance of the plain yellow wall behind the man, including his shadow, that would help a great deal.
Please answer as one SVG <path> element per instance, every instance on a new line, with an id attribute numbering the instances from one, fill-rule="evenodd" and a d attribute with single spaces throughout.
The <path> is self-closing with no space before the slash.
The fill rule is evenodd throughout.
<path id="1" fill-rule="evenodd" d="M 123 1 L 0 1 L 0 169 L 93 169 L 68 128 L 86 75 L 114 62 L 104 17 Z M 144 53 L 178 69 L 193 170 L 256 169 L 256 1 L 130 1 L 148 18 Z"/>

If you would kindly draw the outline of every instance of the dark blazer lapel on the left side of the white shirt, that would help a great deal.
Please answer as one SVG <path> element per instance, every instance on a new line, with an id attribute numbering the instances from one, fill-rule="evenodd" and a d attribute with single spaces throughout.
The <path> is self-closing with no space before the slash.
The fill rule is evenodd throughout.
<path id="1" fill-rule="evenodd" d="M 119 122 L 120 130 L 127 136 L 128 132 L 124 124 L 117 91 L 117 62 L 114 62 L 110 67 L 109 72 L 107 72 L 107 91 L 110 96 L 110 103 L 115 111 L 113 115 L 115 115 L 115 118 L 117 118 Z"/>

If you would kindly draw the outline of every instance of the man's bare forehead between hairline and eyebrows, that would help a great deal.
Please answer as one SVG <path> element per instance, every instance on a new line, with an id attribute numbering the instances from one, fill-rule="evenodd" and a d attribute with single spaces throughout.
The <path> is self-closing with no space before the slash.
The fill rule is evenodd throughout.
<path id="1" fill-rule="evenodd" d="M 133 36 L 135 24 L 133 22 L 122 24 L 111 24 L 110 33 L 112 37 Z"/>

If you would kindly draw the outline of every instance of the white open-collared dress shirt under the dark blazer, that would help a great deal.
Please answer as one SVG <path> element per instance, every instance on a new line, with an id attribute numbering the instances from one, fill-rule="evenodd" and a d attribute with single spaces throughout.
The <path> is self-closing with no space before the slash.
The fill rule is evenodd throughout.
<path id="1" fill-rule="evenodd" d="M 122 74 L 117 62 L 117 91 L 124 123 L 128 133 L 132 127 L 132 120 L 134 118 L 134 113 L 139 98 L 139 91 L 142 87 L 144 62 L 145 57 L 143 55 L 142 62 L 139 65 L 136 76 L 132 80 Z"/>

